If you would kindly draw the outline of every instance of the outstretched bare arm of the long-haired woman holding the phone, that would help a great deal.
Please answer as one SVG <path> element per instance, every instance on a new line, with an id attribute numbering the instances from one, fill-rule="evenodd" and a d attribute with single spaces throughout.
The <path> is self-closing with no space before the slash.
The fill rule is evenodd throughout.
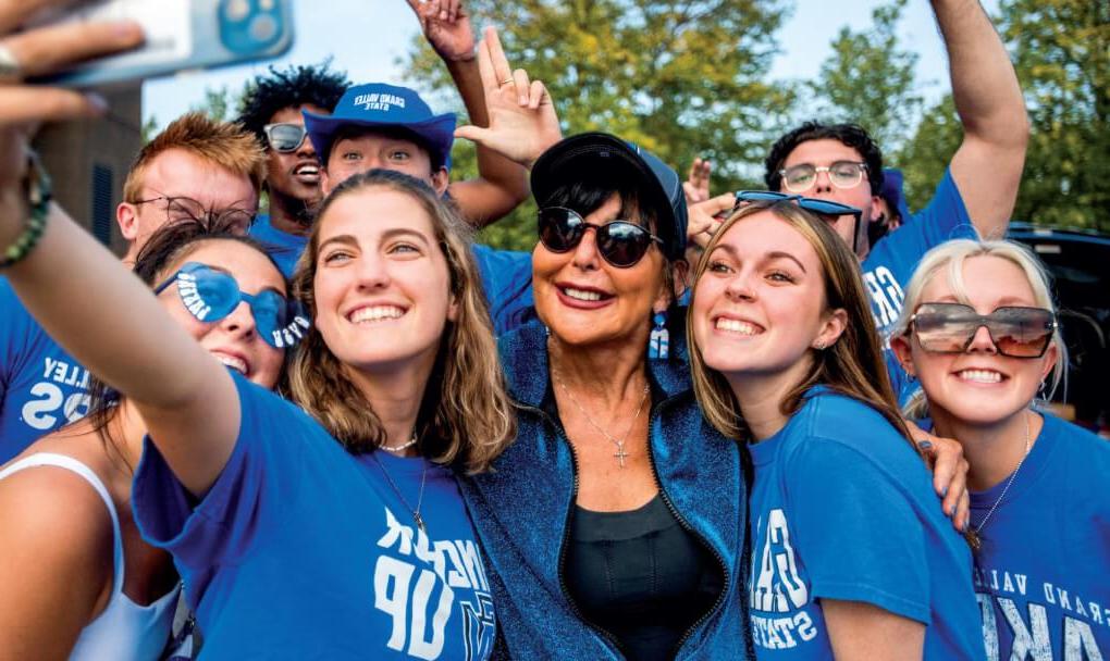
<path id="1" fill-rule="evenodd" d="M 16 132 L 3 133 L 10 154 Z M 20 160 L 0 166 L 11 173 Z M 26 226 L 19 189 L 8 177 L 0 184 L 2 246 L 17 242 Z M 57 205 L 38 245 L 4 275 L 54 340 L 134 404 L 181 482 L 203 495 L 239 434 L 239 395 L 228 370 Z"/>

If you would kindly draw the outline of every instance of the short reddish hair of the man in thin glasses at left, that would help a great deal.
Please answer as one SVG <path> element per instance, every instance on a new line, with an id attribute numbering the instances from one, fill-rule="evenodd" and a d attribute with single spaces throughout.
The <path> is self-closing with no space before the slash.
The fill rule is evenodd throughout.
<path id="1" fill-rule="evenodd" d="M 255 192 L 265 177 L 265 153 L 254 135 L 241 124 L 218 122 L 204 113 L 190 112 L 170 123 L 139 151 L 123 182 L 123 201 L 139 202 L 143 175 L 150 163 L 162 153 L 179 149 L 211 161 L 251 180 Z"/>

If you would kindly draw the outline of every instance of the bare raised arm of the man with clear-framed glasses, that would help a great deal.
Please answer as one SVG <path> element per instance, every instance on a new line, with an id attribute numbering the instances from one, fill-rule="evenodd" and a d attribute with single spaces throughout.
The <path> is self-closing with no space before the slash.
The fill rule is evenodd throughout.
<path id="1" fill-rule="evenodd" d="M 1006 233 L 1021 183 L 1029 119 L 1009 54 L 978 0 L 932 0 L 948 50 L 963 142 L 951 161 L 968 214 L 985 238 Z"/>

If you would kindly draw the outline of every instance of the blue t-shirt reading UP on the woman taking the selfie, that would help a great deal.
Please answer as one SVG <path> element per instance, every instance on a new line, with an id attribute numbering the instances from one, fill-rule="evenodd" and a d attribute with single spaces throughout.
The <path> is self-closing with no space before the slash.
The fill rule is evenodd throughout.
<path id="1" fill-rule="evenodd" d="M 240 435 L 205 497 L 194 507 L 149 440 L 133 489 L 143 538 L 173 553 L 204 654 L 487 659 L 493 600 L 454 475 L 379 452 L 395 491 L 373 456 L 235 382 Z"/>

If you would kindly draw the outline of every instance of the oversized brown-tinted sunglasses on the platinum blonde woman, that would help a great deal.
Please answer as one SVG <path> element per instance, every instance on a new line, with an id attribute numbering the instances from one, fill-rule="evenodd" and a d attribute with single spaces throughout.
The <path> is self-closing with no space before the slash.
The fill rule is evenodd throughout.
<path id="1" fill-rule="evenodd" d="M 986 326 L 998 353 L 1011 358 L 1039 358 L 1056 332 L 1056 315 L 1041 307 L 996 307 L 978 314 L 962 303 L 926 303 L 909 318 L 921 348 L 935 354 L 962 354 Z"/>

